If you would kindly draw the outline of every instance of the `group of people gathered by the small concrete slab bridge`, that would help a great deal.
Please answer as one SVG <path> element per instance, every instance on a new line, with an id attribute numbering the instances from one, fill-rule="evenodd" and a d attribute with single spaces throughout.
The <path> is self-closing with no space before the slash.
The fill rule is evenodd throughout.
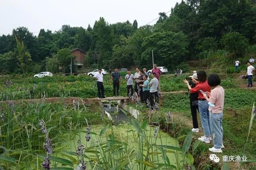
<path id="1" fill-rule="evenodd" d="M 144 67 L 140 70 L 136 67 L 135 74 L 131 74 L 130 70 L 127 70 L 125 76 L 126 86 L 127 86 L 127 96 L 130 97 L 136 92 L 136 95 L 140 97 L 140 101 L 148 106 L 150 103 L 150 109 L 155 109 L 154 104 L 158 101 L 160 94 L 160 76 L 162 72 L 154 64 L 154 68 L 151 71 L 152 79 L 150 80 L 146 68 Z M 103 86 L 103 74 L 102 69 L 98 68 L 98 72 L 94 75 L 97 79 L 98 97 L 105 98 L 104 96 L 104 86 Z M 113 95 L 119 96 L 120 82 L 122 81 L 122 76 L 118 72 L 118 68 L 114 69 L 111 74 L 111 79 L 113 81 Z M 149 81 L 150 80 L 150 81 Z M 133 82 L 135 81 L 135 86 L 133 87 Z"/>

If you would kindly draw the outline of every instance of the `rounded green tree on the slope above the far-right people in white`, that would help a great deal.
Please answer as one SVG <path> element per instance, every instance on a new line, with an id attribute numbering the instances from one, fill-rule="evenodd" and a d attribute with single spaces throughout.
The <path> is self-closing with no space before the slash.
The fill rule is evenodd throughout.
<path id="1" fill-rule="evenodd" d="M 242 57 L 249 46 L 248 39 L 238 32 L 226 33 L 220 43 L 232 59 Z"/>

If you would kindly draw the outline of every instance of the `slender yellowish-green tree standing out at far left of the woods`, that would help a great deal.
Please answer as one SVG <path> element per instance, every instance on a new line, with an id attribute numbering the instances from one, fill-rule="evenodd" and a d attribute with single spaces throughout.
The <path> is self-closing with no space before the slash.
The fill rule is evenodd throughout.
<path id="1" fill-rule="evenodd" d="M 18 66 L 20 67 L 23 73 L 26 72 L 26 68 L 28 64 L 32 61 L 30 53 L 25 50 L 23 41 L 19 41 L 18 38 L 15 36 L 16 43 L 17 43 L 17 59 L 18 59 Z"/>

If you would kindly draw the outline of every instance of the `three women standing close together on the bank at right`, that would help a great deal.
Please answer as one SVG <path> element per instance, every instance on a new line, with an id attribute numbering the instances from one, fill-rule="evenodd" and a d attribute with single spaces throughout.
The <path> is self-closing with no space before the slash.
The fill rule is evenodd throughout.
<path id="1" fill-rule="evenodd" d="M 191 80 L 184 80 L 190 92 L 190 109 L 193 132 L 199 132 L 197 113 L 199 111 L 204 136 L 198 140 L 204 143 L 213 141 L 211 152 L 222 152 L 224 89 L 220 86 L 220 77 L 210 74 L 207 78 L 204 70 L 194 71 Z M 213 88 L 211 90 L 211 88 Z M 213 137 L 213 139 L 212 139 Z"/>

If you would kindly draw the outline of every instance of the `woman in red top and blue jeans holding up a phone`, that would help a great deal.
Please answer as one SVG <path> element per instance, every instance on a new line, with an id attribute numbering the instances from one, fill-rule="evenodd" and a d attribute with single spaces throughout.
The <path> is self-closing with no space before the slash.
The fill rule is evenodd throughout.
<path id="1" fill-rule="evenodd" d="M 191 88 L 188 81 L 184 80 L 184 82 L 187 84 L 188 89 L 190 90 L 190 93 L 198 93 L 198 108 L 201 118 L 201 124 L 202 128 L 204 130 L 204 136 L 198 138 L 198 140 L 210 143 L 212 140 L 211 138 L 211 127 L 210 127 L 210 115 L 209 115 L 209 105 L 206 99 L 204 98 L 202 92 L 210 92 L 211 87 L 209 86 L 207 82 L 207 76 L 206 72 L 204 70 L 200 70 L 197 72 L 198 81 L 193 80 L 196 82 L 196 86 L 194 88 Z M 200 90 L 200 91 L 199 91 Z"/>

